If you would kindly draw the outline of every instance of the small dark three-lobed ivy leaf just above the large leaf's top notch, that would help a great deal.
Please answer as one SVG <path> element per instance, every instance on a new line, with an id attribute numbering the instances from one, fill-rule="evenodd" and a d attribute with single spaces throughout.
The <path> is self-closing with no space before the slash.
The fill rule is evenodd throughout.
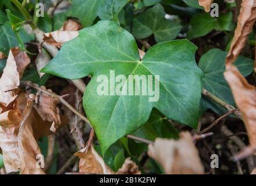
<path id="1" fill-rule="evenodd" d="M 133 35 L 138 39 L 154 34 L 155 41 L 173 40 L 179 34 L 182 26 L 173 20 L 165 19 L 165 10 L 157 4 L 136 16 L 133 20 Z"/>

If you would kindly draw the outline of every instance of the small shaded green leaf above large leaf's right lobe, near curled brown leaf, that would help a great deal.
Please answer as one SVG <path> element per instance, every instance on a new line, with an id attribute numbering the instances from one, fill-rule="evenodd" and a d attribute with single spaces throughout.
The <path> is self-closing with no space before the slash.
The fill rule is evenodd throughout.
<path id="1" fill-rule="evenodd" d="M 187 33 L 187 38 L 193 39 L 207 35 L 212 30 L 227 30 L 232 29 L 232 12 L 219 17 L 211 17 L 209 13 L 198 13 L 191 20 L 191 28 Z"/>

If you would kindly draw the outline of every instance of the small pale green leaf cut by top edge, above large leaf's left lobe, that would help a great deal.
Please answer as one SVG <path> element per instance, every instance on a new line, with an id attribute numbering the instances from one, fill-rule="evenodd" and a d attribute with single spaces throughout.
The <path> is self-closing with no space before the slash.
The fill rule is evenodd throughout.
<path id="1" fill-rule="evenodd" d="M 118 15 L 129 0 L 105 0 L 98 9 L 98 16 L 102 20 L 113 20 L 119 23 Z"/>

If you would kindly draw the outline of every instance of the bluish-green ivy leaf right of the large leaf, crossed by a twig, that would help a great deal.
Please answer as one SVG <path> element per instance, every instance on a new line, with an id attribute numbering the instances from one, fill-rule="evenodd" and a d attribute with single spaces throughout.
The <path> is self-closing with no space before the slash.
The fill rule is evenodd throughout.
<path id="1" fill-rule="evenodd" d="M 226 56 L 227 52 L 221 51 L 221 49 L 211 49 L 201 57 L 198 66 L 205 75 L 202 78 L 202 87 L 226 103 L 235 106 L 232 92 L 223 76 Z M 252 59 L 239 56 L 234 65 L 237 66 L 243 76 L 248 76 L 253 71 L 253 63 Z M 226 109 L 205 97 L 202 97 L 201 107 L 202 112 L 209 108 L 219 115 L 226 113 Z"/>

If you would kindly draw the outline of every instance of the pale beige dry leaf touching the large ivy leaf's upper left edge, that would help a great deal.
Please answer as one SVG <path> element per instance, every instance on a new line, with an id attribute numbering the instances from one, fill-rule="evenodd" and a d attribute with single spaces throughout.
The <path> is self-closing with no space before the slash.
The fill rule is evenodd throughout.
<path id="1" fill-rule="evenodd" d="M 44 41 L 48 44 L 54 45 L 55 47 L 61 47 L 67 41 L 79 35 L 78 31 L 53 31 L 51 33 L 44 34 Z"/>

